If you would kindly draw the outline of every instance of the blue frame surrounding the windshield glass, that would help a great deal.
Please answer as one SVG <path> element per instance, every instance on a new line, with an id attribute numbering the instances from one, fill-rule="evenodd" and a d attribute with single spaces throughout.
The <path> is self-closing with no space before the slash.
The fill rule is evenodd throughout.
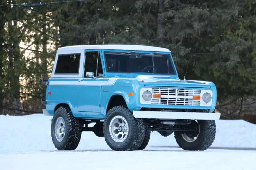
<path id="1" fill-rule="evenodd" d="M 129 74 L 129 73 L 135 73 L 135 72 L 117 72 L 117 71 L 107 71 L 107 63 L 106 63 L 106 55 L 105 53 L 127 53 L 127 52 L 131 52 L 133 50 L 103 50 L 103 56 L 104 56 L 104 65 L 105 65 L 105 72 L 106 73 L 116 73 L 116 74 Z M 149 54 L 149 53 L 156 53 L 157 51 L 136 51 L 136 52 L 133 52 L 133 53 L 129 53 L 129 54 Z M 170 63 L 172 64 L 172 67 L 173 67 L 173 70 L 174 70 L 174 73 L 150 73 L 150 74 L 161 74 L 161 75 L 177 75 L 177 70 L 176 70 L 176 67 L 174 65 L 174 61 L 172 59 L 172 56 L 171 56 L 171 53 L 170 52 L 159 52 L 159 53 L 156 53 L 155 55 L 167 55 L 167 57 L 169 57 L 170 59 Z M 122 54 L 120 54 L 122 55 Z M 151 55 L 149 55 L 151 56 Z M 152 55 L 153 57 L 154 55 Z M 142 56 L 143 57 L 143 56 Z M 168 70 L 169 70 L 169 65 L 168 65 Z M 140 72 L 136 72 L 136 73 L 140 73 Z M 145 73 L 145 72 L 141 72 L 141 73 Z"/>

